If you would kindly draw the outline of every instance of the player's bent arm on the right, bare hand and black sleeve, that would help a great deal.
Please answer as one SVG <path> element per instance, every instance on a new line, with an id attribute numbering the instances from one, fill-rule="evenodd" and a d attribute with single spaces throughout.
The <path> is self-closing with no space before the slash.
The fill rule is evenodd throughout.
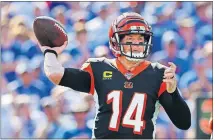
<path id="1" fill-rule="evenodd" d="M 187 130 L 191 126 L 191 113 L 186 102 L 182 99 L 177 88 L 175 77 L 176 65 L 169 62 L 163 76 L 164 90 L 159 96 L 159 102 L 164 107 L 169 118 L 179 129 Z"/>

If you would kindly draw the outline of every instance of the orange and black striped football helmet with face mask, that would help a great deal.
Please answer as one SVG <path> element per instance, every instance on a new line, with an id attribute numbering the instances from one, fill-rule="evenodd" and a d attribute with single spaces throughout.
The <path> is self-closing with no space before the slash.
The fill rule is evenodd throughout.
<path id="1" fill-rule="evenodd" d="M 144 42 L 141 44 L 122 44 L 121 39 L 128 34 L 141 34 L 144 36 Z M 120 15 L 116 20 L 113 21 L 109 29 L 109 45 L 113 54 L 118 57 L 124 55 L 130 58 L 144 59 L 150 53 L 152 46 L 152 28 L 143 19 L 143 17 L 134 12 L 127 12 Z M 142 57 L 133 57 L 132 51 L 130 55 L 123 52 L 123 45 L 141 45 L 144 46 L 144 52 Z M 132 50 L 132 49 L 131 49 Z"/>

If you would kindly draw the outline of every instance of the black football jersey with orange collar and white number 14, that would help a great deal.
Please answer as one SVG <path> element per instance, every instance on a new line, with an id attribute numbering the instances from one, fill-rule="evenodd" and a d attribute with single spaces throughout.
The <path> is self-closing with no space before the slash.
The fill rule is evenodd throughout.
<path id="1" fill-rule="evenodd" d="M 93 138 L 154 137 L 165 66 L 144 61 L 127 71 L 117 59 L 91 58 L 82 69 L 90 73 L 96 101 Z"/>

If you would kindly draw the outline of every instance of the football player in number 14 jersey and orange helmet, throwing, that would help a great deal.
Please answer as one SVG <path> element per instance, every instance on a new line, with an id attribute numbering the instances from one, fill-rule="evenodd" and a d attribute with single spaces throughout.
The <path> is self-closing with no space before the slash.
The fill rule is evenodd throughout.
<path id="1" fill-rule="evenodd" d="M 176 65 L 145 60 L 152 29 L 144 18 L 133 12 L 120 15 L 111 24 L 109 42 L 115 59 L 89 58 L 81 69 L 58 62 L 67 42 L 55 48 L 41 46 L 44 70 L 53 83 L 94 96 L 93 138 L 152 139 L 160 105 L 176 127 L 187 130 L 191 114 L 177 88 Z"/>

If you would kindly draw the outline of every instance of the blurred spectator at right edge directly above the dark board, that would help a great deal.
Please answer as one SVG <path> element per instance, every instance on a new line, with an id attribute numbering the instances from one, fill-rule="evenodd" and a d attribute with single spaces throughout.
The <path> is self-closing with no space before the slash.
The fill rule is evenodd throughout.
<path id="1" fill-rule="evenodd" d="M 200 55 L 203 52 L 200 52 Z M 199 57 L 199 56 L 198 56 Z M 197 97 L 211 97 L 212 91 L 212 71 L 206 70 L 204 58 L 197 58 L 193 64 L 193 70 L 184 73 L 180 79 L 180 87 L 185 98 L 190 96 L 193 99 Z"/>

